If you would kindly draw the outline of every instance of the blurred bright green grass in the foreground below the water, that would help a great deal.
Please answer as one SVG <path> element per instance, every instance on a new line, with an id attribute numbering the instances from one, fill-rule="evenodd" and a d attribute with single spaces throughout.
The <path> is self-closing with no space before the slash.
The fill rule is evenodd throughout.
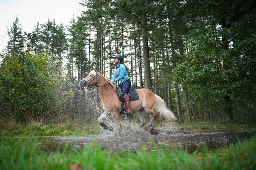
<path id="1" fill-rule="evenodd" d="M 45 152 L 36 141 L 3 139 L 0 145 L 0 169 L 70 169 L 80 164 L 90 170 L 253 170 L 256 169 L 256 137 L 223 149 L 188 154 L 184 149 L 143 149 L 130 152 L 111 152 L 92 144 L 84 149 L 67 152 Z"/>

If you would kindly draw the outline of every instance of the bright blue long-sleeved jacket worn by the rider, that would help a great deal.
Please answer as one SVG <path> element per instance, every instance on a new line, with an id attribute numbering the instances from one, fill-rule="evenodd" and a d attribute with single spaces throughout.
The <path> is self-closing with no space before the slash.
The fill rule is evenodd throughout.
<path id="1" fill-rule="evenodd" d="M 118 66 L 115 68 L 115 74 L 112 80 L 115 80 L 115 82 L 120 81 L 120 83 L 125 82 L 130 77 L 127 74 L 126 67 L 124 64 L 119 63 Z"/>

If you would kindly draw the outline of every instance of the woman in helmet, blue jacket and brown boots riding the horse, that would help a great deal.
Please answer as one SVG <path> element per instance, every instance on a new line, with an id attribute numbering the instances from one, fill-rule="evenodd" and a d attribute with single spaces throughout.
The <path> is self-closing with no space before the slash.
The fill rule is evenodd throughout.
<path id="1" fill-rule="evenodd" d="M 128 114 L 132 112 L 130 109 L 130 99 L 128 96 L 128 90 L 131 87 L 131 80 L 127 74 L 128 68 L 125 64 L 122 63 L 124 61 L 124 57 L 122 55 L 117 54 L 112 58 L 114 58 L 116 68 L 114 77 L 109 82 L 113 83 L 120 81 L 119 86 L 122 88 L 122 95 L 124 97 L 124 103 L 127 108 L 126 111 L 124 111 L 124 114 Z"/>

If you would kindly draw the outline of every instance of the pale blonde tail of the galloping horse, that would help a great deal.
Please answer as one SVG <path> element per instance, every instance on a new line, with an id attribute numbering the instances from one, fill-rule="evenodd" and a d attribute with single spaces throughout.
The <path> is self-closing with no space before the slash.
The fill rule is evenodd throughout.
<path id="1" fill-rule="evenodd" d="M 166 108 L 166 104 L 164 100 L 157 95 L 156 95 L 156 106 L 154 107 L 154 110 L 157 111 L 160 115 L 164 116 L 169 121 L 177 121 L 172 111 Z"/>

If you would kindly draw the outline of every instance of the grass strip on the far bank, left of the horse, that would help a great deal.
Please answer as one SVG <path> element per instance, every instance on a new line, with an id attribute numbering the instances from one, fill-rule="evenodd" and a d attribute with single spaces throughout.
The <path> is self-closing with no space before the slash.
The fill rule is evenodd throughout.
<path id="1" fill-rule="evenodd" d="M 50 123 L 47 125 L 19 123 L 0 124 L 0 132 L 4 137 L 35 136 L 84 136 L 100 133 L 98 124 Z"/>

